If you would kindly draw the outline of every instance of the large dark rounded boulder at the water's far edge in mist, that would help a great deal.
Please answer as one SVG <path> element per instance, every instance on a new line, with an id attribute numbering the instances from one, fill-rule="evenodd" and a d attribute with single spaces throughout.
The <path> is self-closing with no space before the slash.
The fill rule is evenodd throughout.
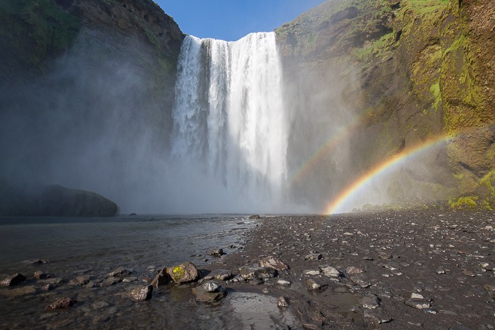
<path id="1" fill-rule="evenodd" d="M 118 210 L 116 203 L 94 192 L 50 185 L 39 196 L 34 215 L 114 216 Z"/>

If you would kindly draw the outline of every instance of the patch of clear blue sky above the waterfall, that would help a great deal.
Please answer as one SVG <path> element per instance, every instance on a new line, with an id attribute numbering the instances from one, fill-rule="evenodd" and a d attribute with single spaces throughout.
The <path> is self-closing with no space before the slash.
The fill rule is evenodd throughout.
<path id="1" fill-rule="evenodd" d="M 250 32 L 273 31 L 325 0 L 154 0 L 200 38 L 235 41 Z"/>

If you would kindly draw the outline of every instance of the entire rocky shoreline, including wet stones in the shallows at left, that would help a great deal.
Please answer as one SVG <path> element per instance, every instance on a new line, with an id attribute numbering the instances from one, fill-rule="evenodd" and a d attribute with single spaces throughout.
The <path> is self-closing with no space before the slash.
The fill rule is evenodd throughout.
<path id="1" fill-rule="evenodd" d="M 19 308 L 39 306 L 19 316 L 33 316 L 45 329 L 115 327 L 123 318 L 144 328 L 170 327 L 168 318 L 174 326 L 197 325 L 201 317 L 185 320 L 163 307 L 173 303 L 191 317 L 215 311 L 228 319 L 226 306 L 236 293 L 266 296 L 278 305 L 275 329 L 494 329 L 494 218 L 492 211 L 438 206 L 264 216 L 242 243 L 201 256 L 206 263 L 199 269 L 190 262 L 145 271 L 119 267 L 108 274 L 83 269 L 63 279 L 39 270 L 49 270 L 50 260 L 31 260 L 26 269 L 37 270 L 34 276 L 13 274 L 1 282 L 0 293 Z M 284 323 L 291 319 L 297 322 Z M 24 329 L 31 322 L 6 319 L 3 325 Z"/>

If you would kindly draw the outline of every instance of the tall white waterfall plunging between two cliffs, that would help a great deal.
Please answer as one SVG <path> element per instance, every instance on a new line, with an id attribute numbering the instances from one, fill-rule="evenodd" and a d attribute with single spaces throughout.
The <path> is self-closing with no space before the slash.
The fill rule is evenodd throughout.
<path id="1" fill-rule="evenodd" d="M 196 188 L 215 187 L 206 199 L 220 189 L 223 203 L 265 212 L 280 207 L 288 130 L 281 79 L 274 32 L 234 42 L 185 38 L 172 158 L 183 175 L 195 173 Z"/>

